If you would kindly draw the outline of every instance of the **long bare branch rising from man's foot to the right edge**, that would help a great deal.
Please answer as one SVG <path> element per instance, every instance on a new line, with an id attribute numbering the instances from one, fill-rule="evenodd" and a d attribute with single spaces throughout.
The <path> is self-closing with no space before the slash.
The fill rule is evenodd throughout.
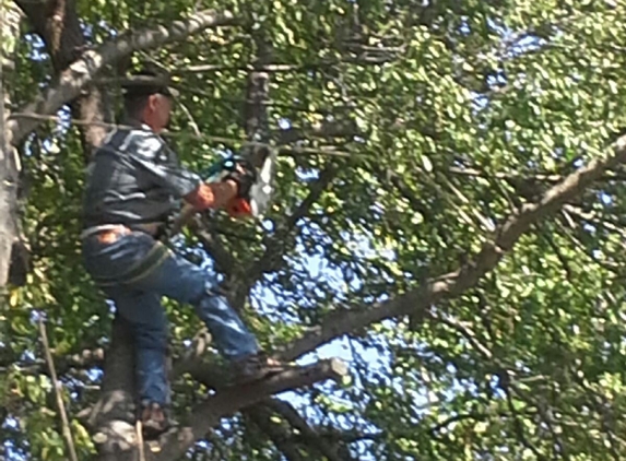
<path id="1" fill-rule="evenodd" d="M 287 344 L 281 353 L 281 358 L 294 359 L 334 338 L 370 323 L 402 315 L 425 312 L 429 306 L 440 299 L 458 296 L 474 286 L 483 275 L 497 265 L 507 251 L 512 249 L 532 224 L 552 215 L 568 200 L 601 178 L 606 170 L 625 162 L 626 135 L 613 144 L 612 151 L 606 158 L 594 159 L 589 165 L 567 176 L 563 181 L 548 189 L 539 202 L 525 204 L 519 212 L 509 216 L 496 229 L 495 239 L 486 243 L 483 249 L 458 271 L 428 279 L 421 287 L 388 302 L 377 303 L 364 309 L 333 312 L 319 328 Z"/>

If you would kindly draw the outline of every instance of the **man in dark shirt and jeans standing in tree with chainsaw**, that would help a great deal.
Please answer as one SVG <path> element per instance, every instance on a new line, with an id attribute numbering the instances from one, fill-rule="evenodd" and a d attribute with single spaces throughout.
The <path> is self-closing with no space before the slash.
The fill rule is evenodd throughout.
<path id="1" fill-rule="evenodd" d="M 237 379 L 262 379 L 282 369 L 259 350 L 220 292 L 216 277 L 155 238 L 180 199 L 199 211 L 227 208 L 246 197 L 255 178 L 241 164 L 225 180 L 206 185 L 181 168 L 158 135 L 169 121 L 173 96 L 173 88 L 157 81 L 128 87 L 126 120 L 95 151 L 84 202 L 84 264 L 131 326 L 146 437 L 168 427 L 167 321 L 162 296 L 196 308 Z"/>

